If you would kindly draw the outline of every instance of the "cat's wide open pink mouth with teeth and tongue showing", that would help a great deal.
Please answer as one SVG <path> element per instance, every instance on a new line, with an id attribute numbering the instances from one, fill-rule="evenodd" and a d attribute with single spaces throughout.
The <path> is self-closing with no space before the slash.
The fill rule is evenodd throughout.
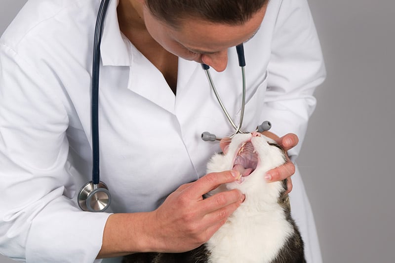
<path id="1" fill-rule="evenodd" d="M 251 142 L 244 142 L 237 151 L 233 162 L 233 170 L 241 174 L 240 183 L 244 181 L 243 177 L 249 176 L 258 165 L 258 154 Z"/>

